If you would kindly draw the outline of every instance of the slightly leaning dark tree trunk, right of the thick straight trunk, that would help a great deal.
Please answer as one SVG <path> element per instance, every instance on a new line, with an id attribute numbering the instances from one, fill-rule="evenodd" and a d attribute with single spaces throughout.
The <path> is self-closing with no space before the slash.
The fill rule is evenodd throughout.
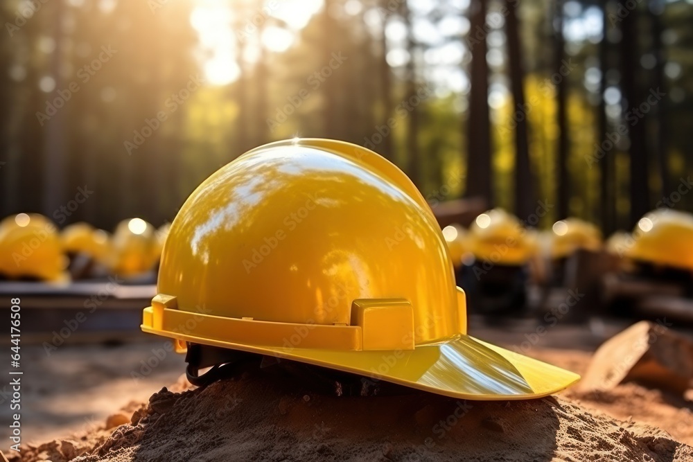
<path id="1" fill-rule="evenodd" d="M 522 42 L 518 15 L 513 1 L 506 0 L 508 15 L 505 19 L 508 57 L 510 69 L 510 84 L 513 93 L 514 114 L 520 112 L 523 116 L 517 118 L 515 127 L 515 213 L 518 217 L 527 219 L 534 211 L 534 182 L 532 168 L 529 163 L 529 139 L 527 136 L 527 114 L 525 109 L 525 69 L 523 65 Z"/>

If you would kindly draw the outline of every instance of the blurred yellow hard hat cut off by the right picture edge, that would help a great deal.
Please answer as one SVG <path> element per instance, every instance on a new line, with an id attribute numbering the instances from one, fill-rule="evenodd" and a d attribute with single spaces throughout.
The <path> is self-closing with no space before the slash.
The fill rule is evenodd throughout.
<path id="1" fill-rule="evenodd" d="M 693 270 L 693 215 L 661 208 L 644 215 L 633 229 L 626 256 L 655 265 Z"/>

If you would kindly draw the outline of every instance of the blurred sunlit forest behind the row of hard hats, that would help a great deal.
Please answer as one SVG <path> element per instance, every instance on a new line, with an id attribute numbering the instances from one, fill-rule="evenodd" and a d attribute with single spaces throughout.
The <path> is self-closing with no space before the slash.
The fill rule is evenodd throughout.
<path id="1" fill-rule="evenodd" d="M 541 201 L 543 226 L 693 210 L 692 0 L 0 8 L 2 216 L 55 219 L 84 188 L 60 224 L 159 225 L 220 166 L 294 136 L 365 145 L 434 202 L 523 219 Z"/>

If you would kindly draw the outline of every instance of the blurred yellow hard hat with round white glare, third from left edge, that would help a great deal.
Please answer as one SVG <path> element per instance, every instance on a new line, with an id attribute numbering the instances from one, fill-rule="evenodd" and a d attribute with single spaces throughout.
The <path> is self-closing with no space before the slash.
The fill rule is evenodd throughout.
<path id="1" fill-rule="evenodd" d="M 113 233 L 111 269 L 121 276 L 150 271 L 159 260 L 155 227 L 141 218 L 121 221 Z"/>

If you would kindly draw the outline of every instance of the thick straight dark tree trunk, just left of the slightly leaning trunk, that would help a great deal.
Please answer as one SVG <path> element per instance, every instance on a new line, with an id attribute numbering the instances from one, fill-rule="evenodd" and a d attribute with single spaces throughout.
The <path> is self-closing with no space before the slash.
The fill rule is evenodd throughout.
<path id="1" fill-rule="evenodd" d="M 486 62 L 486 0 L 469 6 L 468 48 L 472 54 L 467 118 L 467 197 L 482 197 L 493 205 L 491 124 L 489 123 L 489 64 Z M 477 32 L 479 34 L 477 35 Z"/>

